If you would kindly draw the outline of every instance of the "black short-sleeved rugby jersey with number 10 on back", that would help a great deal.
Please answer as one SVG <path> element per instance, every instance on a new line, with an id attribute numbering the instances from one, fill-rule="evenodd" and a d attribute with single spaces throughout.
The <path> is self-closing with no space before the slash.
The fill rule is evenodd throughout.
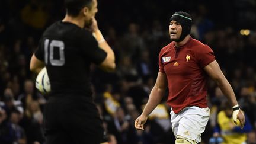
<path id="1" fill-rule="evenodd" d="M 91 32 L 57 21 L 44 31 L 35 56 L 46 64 L 52 94 L 90 96 L 90 65 L 103 62 L 107 53 L 98 47 Z"/>

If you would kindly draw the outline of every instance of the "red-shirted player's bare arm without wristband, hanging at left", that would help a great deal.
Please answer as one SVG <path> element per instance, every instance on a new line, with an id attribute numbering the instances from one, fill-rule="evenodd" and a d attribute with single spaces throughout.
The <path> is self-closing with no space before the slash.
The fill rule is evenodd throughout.
<path id="1" fill-rule="evenodd" d="M 149 100 L 142 114 L 135 120 L 135 128 L 144 130 L 143 126 L 148 119 L 148 115 L 156 108 L 156 106 L 161 102 L 164 96 L 165 90 L 167 88 L 167 77 L 165 73 L 158 72 L 158 77 L 156 79 L 155 86 L 152 88 L 149 94 Z"/>

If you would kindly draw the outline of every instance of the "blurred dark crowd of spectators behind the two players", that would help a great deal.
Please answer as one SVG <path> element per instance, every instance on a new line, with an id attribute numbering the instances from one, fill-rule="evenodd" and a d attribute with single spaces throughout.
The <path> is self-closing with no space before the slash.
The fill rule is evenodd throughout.
<path id="1" fill-rule="evenodd" d="M 98 25 L 117 64 L 114 73 L 91 66 L 94 100 L 110 143 L 175 141 L 165 104 L 168 92 L 143 132 L 133 126 L 155 84 L 158 54 L 170 42 L 169 17 L 175 11 L 192 15 L 191 36 L 213 49 L 247 114 L 248 129 L 232 131 L 235 124 L 225 129 L 256 143 L 256 1 L 98 0 L 98 9 Z M 64 15 L 62 0 L 0 1 L 0 143 L 44 143 L 42 113 L 47 95 L 34 87 L 36 74 L 29 71 L 29 63 L 45 28 Z M 241 35 L 242 28 L 250 30 L 248 36 Z M 227 109 L 226 98 L 210 79 L 207 100 L 211 116 L 201 143 L 225 138 L 226 132 L 220 121 L 228 116 L 221 113 Z"/>

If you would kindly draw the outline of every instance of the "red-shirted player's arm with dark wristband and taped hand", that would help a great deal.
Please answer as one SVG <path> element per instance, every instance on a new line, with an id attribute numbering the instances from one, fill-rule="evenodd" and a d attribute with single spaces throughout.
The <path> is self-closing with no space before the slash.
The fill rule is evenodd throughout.
<path id="1" fill-rule="evenodd" d="M 233 105 L 233 120 L 236 123 L 236 119 L 238 119 L 241 123 L 241 129 L 244 127 L 245 124 L 245 116 L 242 110 L 240 110 L 238 106 L 238 102 L 235 97 L 235 93 L 231 85 L 229 84 L 228 80 L 223 75 L 219 64 L 216 60 L 209 63 L 204 67 L 204 71 L 216 82 L 219 88 L 222 90 L 223 94 L 226 95 L 230 103 Z"/>

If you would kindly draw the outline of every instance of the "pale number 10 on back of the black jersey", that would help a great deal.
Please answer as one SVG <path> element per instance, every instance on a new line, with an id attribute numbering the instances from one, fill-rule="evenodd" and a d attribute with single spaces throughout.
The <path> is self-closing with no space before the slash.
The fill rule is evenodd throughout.
<path id="1" fill-rule="evenodd" d="M 60 40 L 52 40 L 50 42 L 50 52 L 48 53 L 48 47 L 49 47 L 49 39 L 46 39 L 44 41 L 44 61 L 46 64 L 48 63 L 48 57 L 50 59 L 50 63 L 53 66 L 63 66 L 65 64 L 65 56 L 64 56 L 64 43 Z M 59 59 L 53 59 L 53 49 L 54 47 L 59 49 Z"/>

